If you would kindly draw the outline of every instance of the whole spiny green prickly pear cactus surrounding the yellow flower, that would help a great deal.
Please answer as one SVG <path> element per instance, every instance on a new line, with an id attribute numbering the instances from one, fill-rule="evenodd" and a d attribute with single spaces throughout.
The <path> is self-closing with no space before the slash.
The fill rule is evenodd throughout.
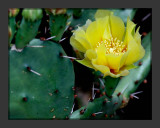
<path id="1" fill-rule="evenodd" d="M 110 10 L 125 24 L 137 11 Z M 101 72 L 73 61 L 82 59 L 83 54 L 71 47 L 70 37 L 88 19 L 93 21 L 96 11 L 9 10 L 9 119 L 113 120 L 118 119 L 118 109 L 137 98 L 140 92 L 135 91 L 151 67 L 151 33 L 142 40 L 145 56 L 127 76 L 103 77 Z M 80 97 L 82 88 L 89 90 L 85 104 Z"/>

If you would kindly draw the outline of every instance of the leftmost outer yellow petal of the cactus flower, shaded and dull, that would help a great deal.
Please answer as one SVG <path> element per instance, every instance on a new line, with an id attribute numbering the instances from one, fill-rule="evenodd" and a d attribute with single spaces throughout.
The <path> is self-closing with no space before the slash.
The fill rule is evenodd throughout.
<path id="1" fill-rule="evenodd" d="M 86 49 L 83 47 L 83 45 L 78 42 L 77 40 L 75 40 L 74 36 L 72 36 L 70 38 L 70 44 L 72 45 L 72 47 L 74 47 L 75 49 L 79 50 L 80 52 L 85 53 Z"/>

